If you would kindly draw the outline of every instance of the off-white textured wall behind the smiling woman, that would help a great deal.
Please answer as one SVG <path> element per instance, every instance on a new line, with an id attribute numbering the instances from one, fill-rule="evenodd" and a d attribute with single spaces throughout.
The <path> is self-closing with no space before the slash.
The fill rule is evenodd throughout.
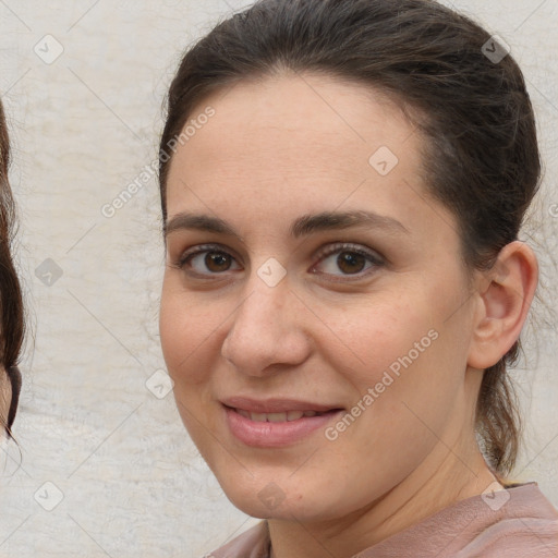
<path id="1" fill-rule="evenodd" d="M 172 393 L 157 399 L 145 386 L 165 368 L 155 179 L 112 218 L 100 210 L 155 159 L 163 95 L 183 48 L 242 5 L 0 0 L 0 94 L 29 314 L 14 428 L 21 456 L 13 444 L 0 452 L 0 556 L 199 557 L 255 522 L 222 495 Z M 558 231 L 558 3 L 453 5 L 511 46 L 538 118 L 546 178 L 522 238 L 541 257 L 545 286 L 525 331 L 529 360 L 514 373 L 527 416 L 517 477 L 536 480 L 558 505 L 558 292 L 549 256 Z M 45 59 L 60 47 L 46 35 L 63 47 L 52 63 Z M 47 258 L 62 271 L 56 281 Z"/>

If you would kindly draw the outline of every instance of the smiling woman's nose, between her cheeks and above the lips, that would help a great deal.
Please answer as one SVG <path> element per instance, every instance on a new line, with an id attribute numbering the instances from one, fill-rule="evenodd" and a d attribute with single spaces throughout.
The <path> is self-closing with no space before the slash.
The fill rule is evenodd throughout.
<path id="1" fill-rule="evenodd" d="M 283 280 L 268 287 L 256 277 L 236 310 L 221 345 L 222 356 L 248 376 L 268 376 L 302 364 L 311 338 L 303 327 L 304 311 Z M 258 284 L 259 283 L 259 284 Z"/>

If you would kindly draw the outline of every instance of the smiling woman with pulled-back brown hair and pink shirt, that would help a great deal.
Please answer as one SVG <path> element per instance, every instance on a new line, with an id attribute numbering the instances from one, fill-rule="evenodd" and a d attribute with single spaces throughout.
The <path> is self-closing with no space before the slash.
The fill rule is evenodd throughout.
<path id="1" fill-rule="evenodd" d="M 263 0 L 184 56 L 160 156 L 177 403 L 266 519 L 213 556 L 555 556 L 509 478 L 541 166 L 506 47 L 428 0 Z"/>

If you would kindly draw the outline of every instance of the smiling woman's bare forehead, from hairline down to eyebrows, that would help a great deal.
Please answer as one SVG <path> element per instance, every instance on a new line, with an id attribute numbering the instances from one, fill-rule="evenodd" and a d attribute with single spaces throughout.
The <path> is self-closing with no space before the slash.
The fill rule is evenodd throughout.
<path id="1" fill-rule="evenodd" d="M 168 175 L 169 218 L 191 206 L 248 218 L 343 205 L 408 214 L 410 228 L 420 220 L 422 137 L 364 85 L 315 74 L 239 82 L 204 99 L 187 125 Z"/>

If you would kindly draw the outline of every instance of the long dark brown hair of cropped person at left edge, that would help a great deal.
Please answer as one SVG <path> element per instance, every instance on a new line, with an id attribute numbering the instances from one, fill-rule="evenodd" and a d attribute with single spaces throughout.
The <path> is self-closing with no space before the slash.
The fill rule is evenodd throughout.
<path id="1" fill-rule="evenodd" d="M 17 361 L 23 343 L 24 319 L 22 290 L 11 252 L 15 233 L 15 208 L 8 182 L 9 165 L 10 142 L 0 102 L 0 366 L 5 369 L 12 386 L 10 410 L 3 425 L 11 436 L 22 385 Z M 3 371 L 0 373 L 3 374 Z M 3 417 L 0 420 L 3 422 Z"/>

